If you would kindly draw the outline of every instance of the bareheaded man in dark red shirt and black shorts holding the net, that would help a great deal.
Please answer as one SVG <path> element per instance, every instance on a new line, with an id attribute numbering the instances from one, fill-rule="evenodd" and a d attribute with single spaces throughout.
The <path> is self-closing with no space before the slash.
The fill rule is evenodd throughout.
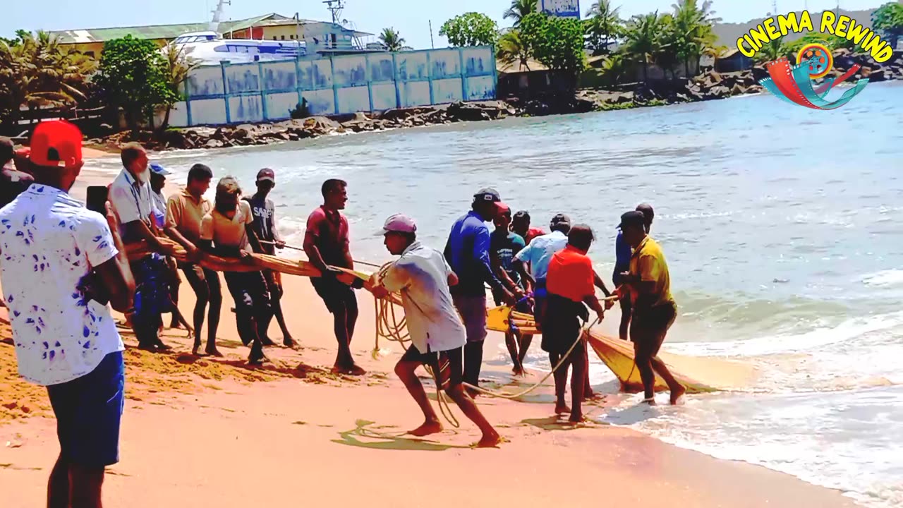
<path id="1" fill-rule="evenodd" d="M 340 280 L 340 271 L 330 267 L 354 269 L 349 249 L 348 219 L 341 212 L 348 202 L 348 183 L 330 179 L 321 187 L 323 204 L 311 212 L 304 232 L 304 252 L 321 277 L 311 278 L 311 284 L 332 314 L 332 325 L 339 343 L 339 353 L 332 369 L 335 372 L 362 376 L 367 373 L 354 362 L 351 339 L 358 323 L 358 296 L 354 289 L 362 287 L 355 278 L 349 286 Z"/>

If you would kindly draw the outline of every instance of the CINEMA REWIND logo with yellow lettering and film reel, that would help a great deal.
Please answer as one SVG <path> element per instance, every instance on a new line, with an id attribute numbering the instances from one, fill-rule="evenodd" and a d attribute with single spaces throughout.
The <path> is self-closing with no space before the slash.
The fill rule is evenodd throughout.
<path id="1" fill-rule="evenodd" d="M 813 30 L 812 16 L 808 11 L 803 11 L 799 17 L 796 13 L 778 15 L 768 18 L 737 39 L 737 49 L 743 55 L 752 58 L 765 44 L 779 41 L 787 33 L 806 33 Z M 893 54 L 893 48 L 888 42 L 882 41 L 877 33 L 845 15 L 837 16 L 831 11 L 824 11 L 820 32 L 830 33 L 855 43 L 862 51 L 870 52 L 871 57 L 878 62 L 888 61 Z M 814 80 L 827 76 L 833 67 L 831 50 L 824 44 L 806 44 L 796 53 L 796 65 L 791 65 L 787 58 L 769 61 L 766 64 L 769 77 L 759 80 L 759 83 L 778 99 L 791 104 L 813 109 L 836 109 L 856 97 L 869 84 L 869 80 L 857 80 L 852 88 L 844 90 L 840 97 L 828 99 L 832 89 L 855 76 L 861 69 L 859 64 L 852 65 L 850 70 L 841 76 L 816 87 Z"/>

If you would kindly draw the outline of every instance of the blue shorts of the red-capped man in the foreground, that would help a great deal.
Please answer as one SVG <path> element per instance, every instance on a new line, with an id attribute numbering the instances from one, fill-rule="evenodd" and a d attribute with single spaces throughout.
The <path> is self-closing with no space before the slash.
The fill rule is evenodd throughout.
<path id="1" fill-rule="evenodd" d="M 119 462 L 125 390 L 126 364 L 121 351 L 107 354 L 94 371 L 77 380 L 47 387 L 65 461 L 87 467 Z"/>

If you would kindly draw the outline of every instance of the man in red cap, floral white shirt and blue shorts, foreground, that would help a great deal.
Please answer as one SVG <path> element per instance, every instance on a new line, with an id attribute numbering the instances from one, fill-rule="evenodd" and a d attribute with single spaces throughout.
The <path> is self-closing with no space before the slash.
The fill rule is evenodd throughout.
<path id="1" fill-rule="evenodd" d="M 72 199 L 81 133 L 63 120 L 34 129 L 34 183 L 0 209 L 0 278 L 19 373 L 47 387 L 60 457 L 48 506 L 100 506 L 106 466 L 119 456 L 123 343 L 107 301 L 132 306 L 135 281 L 112 212 Z"/>

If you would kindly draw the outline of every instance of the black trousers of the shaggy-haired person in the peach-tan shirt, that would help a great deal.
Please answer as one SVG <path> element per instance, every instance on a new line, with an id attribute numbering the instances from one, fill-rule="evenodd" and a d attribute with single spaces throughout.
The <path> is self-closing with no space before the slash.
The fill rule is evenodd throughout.
<path id="1" fill-rule="evenodd" d="M 235 301 L 236 323 L 241 342 L 251 346 L 251 356 L 263 354 L 261 339 L 266 336 L 273 319 L 270 295 L 264 274 L 256 272 L 224 272 L 228 292 Z"/>

